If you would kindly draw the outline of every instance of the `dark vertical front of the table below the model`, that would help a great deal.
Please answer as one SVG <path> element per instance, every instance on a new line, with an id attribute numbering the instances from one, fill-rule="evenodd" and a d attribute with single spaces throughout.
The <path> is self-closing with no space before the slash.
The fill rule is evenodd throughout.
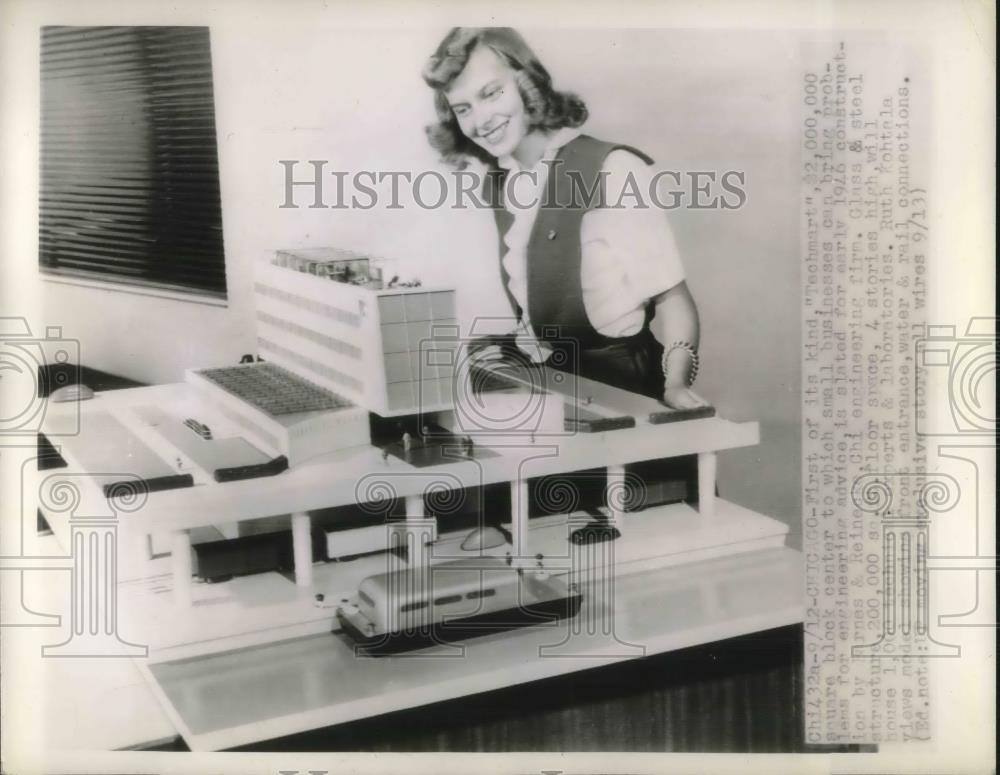
<path id="1" fill-rule="evenodd" d="M 804 751 L 802 645 L 789 625 L 238 750 Z"/>

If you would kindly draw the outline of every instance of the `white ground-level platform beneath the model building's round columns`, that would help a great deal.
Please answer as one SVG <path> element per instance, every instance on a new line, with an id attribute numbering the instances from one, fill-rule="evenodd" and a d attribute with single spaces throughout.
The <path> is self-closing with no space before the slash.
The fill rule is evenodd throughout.
<path id="1" fill-rule="evenodd" d="M 715 557 L 781 547 L 788 532 L 782 522 L 724 500 L 716 501 L 716 515 L 709 522 L 687 504 L 657 506 L 626 514 L 622 536 L 607 544 L 580 551 L 575 557 L 569 531 L 589 520 L 583 515 L 533 519 L 529 522 L 528 556 L 542 553 L 556 573 L 591 572 L 613 567 L 616 577 Z M 427 547 L 431 563 L 474 556 L 461 544 L 468 531 L 443 534 Z M 340 544 L 343 546 L 343 543 Z M 503 556 L 510 547 L 495 547 L 484 554 Z M 610 553 L 609 553 L 610 552 Z M 613 562 L 609 566 L 608 558 Z M 577 562 L 574 567 L 573 563 Z M 298 587 L 291 574 L 260 573 L 220 584 L 192 585 L 191 606 L 179 609 L 169 575 L 119 585 L 122 634 L 127 640 L 149 646 L 154 662 L 179 659 L 250 645 L 264 644 L 336 628 L 334 607 L 353 597 L 366 576 L 384 573 L 402 561 L 374 554 L 345 562 L 312 566 L 312 584 Z M 404 563 L 405 564 L 405 563 Z M 316 594 L 323 595 L 318 603 Z"/>

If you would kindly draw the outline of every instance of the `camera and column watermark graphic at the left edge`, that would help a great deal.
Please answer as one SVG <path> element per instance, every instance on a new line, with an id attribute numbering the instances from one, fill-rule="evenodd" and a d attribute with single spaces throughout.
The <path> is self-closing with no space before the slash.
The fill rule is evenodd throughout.
<path id="1" fill-rule="evenodd" d="M 33 335 L 27 319 L 0 318 L 0 449 L 20 460 L 17 497 L 7 502 L 16 519 L 5 531 L 0 571 L 11 585 L 0 627 L 68 629 L 66 639 L 42 648 L 43 657 L 146 656 L 147 647 L 119 633 L 119 517 L 145 505 L 143 480 L 129 472 L 67 473 L 61 470 L 60 439 L 80 433 L 80 405 L 50 405 L 57 389 L 79 383 L 80 343 L 48 326 Z M 42 431 L 50 449 L 43 452 Z M 16 505 L 14 505 L 16 504 Z M 67 555 L 33 553 L 28 539 L 37 529 L 36 510 L 58 520 L 69 542 Z M 57 614 L 26 604 L 28 580 L 43 574 L 47 584 L 69 591 L 69 627 Z M 64 587 L 59 587 L 64 589 Z"/>

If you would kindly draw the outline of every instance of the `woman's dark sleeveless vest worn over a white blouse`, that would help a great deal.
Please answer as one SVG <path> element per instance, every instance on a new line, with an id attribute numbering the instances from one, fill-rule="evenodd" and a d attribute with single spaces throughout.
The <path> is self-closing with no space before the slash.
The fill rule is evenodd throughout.
<path id="1" fill-rule="evenodd" d="M 548 342 L 557 353 L 564 351 L 569 356 L 561 360 L 573 371 L 659 398 L 663 385 L 659 360 L 662 347 L 649 330 L 652 304 L 646 310 L 642 331 L 620 338 L 598 332 L 583 304 L 580 227 L 590 210 L 615 203 L 619 192 L 611 192 L 611 197 L 606 198 L 601 185 L 604 179 L 599 173 L 607 155 L 620 148 L 647 164 L 653 163 L 630 146 L 580 135 L 564 145 L 549 165 L 542 204 L 528 239 L 528 319 L 536 337 Z M 490 170 L 484 194 L 496 219 L 504 291 L 520 319 L 523 311 L 510 292 L 510 277 L 503 267 L 507 253 L 504 236 L 514 222 L 514 216 L 504 207 L 505 175 L 506 171 L 499 167 Z M 555 362 L 557 359 L 553 359 Z"/>

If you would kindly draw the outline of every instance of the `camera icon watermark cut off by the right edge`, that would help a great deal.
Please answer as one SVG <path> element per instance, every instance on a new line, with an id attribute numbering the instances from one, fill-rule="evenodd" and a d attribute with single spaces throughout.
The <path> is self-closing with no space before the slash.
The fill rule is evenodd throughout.
<path id="1" fill-rule="evenodd" d="M 995 436 L 997 319 L 928 326 L 916 342 L 916 428 L 922 436 Z M 946 409 L 945 409 L 946 407 Z"/>

